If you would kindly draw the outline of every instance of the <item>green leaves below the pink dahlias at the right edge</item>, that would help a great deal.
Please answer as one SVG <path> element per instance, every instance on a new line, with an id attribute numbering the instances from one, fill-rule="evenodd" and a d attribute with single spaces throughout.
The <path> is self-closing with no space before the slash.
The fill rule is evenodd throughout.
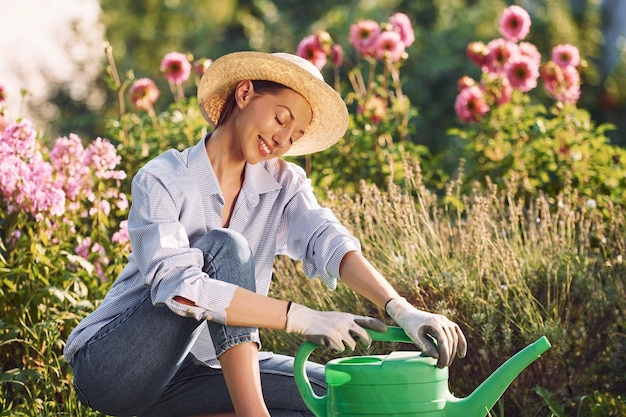
<path id="1" fill-rule="evenodd" d="M 516 92 L 519 93 L 519 92 Z M 467 142 L 466 176 L 498 185 L 520 181 L 520 192 L 558 195 L 571 182 L 582 196 L 626 197 L 626 152 L 611 145 L 609 125 L 597 126 L 587 111 L 573 105 L 546 109 L 526 95 L 494 108 L 483 120 L 451 129 Z"/>

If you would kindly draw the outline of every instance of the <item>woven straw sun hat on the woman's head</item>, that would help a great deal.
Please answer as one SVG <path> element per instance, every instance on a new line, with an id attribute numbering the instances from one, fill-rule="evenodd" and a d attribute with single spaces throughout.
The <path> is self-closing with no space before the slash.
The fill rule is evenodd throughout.
<path id="1" fill-rule="evenodd" d="M 348 128 L 346 104 L 311 62 L 297 55 L 264 52 L 234 52 L 216 59 L 207 68 L 198 86 L 198 104 L 211 126 L 217 125 L 226 97 L 242 80 L 283 84 L 311 105 L 311 123 L 286 156 L 323 151 L 337 143 Z"/>

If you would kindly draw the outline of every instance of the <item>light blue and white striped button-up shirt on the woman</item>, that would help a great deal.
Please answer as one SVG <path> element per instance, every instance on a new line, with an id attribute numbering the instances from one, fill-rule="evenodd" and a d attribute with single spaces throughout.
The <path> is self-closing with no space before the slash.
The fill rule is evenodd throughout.
<path id="1" fill-rule="evenodd" d="M 150 288 L 152 302 L 182 316 L 226 323 L 235 286 L 202 272 L 203 255 L 192 248 L 209 230 L 222 227 L 224 198 L 207 156 L 204 138 L 180 152 L 170 150 L 148 162 L 132 182 L 128 231 L 133 251 L 102 303 L 72 331 L 68 362 L 100 328 L 138 302 Z M 299 166 L 282 158 L 245 167 L 243 186 L 228 226 L 241 233 L 254 254 L 256 290 L 267 295 L 276 255 L 302 260 L 309 278 L 330 289 L 344 255 L 360 250 L 328 208 L 318 203 Z M 173 300 L 182 296 L 195 303 Z M 207 326 L 192 347 L 194 356 L 216 364 Z"/>

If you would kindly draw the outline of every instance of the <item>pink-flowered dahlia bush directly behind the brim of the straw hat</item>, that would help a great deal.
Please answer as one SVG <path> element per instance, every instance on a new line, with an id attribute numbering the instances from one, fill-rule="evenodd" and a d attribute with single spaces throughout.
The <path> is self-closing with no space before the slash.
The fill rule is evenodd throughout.
<path id="1" fill-rule="evenodd" d="M 402 176 L 404 153 L 422 155 L 425 163 L 428 157 L 426 147 L 411 141 L 417 110 L 403 93 L 400 76 L 415 40 L 408 16 L 396 13 L 382 23 L 359 20 L 350 26 L 348 38 L 351 48 L 344 48 L 321 30 L 302 39 L 296 50 L 320 70 L 332 70 L 335 88 L 350 109 L 344 138 L 307 158 L 307 170 L 321 189 L 356 190 L 364 178 L 382 186 Z"/>

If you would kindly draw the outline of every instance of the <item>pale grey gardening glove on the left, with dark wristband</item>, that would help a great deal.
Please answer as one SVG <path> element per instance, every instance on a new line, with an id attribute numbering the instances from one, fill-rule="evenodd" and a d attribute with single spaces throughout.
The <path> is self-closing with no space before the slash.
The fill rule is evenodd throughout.
<path id="1" fill-rule="evenodd" d="M 372 338 L 365 328 L 387 331 L 385 323 L 372 317 L 317 311 L 296 303 L 290 303 L 287 310 L 286 331 L 304 335 L 307 340 L 337 352 L 343 352 L 346 347 L 354 350 L 357 341 L 369 346 Z"/>

